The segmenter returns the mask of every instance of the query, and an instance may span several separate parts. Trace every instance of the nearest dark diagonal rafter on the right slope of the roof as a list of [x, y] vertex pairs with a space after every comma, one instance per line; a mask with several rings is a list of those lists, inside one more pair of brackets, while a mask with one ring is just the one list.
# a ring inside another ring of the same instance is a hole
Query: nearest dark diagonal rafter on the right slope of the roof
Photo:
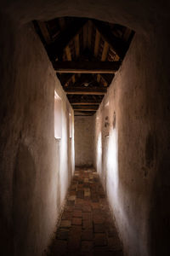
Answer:
[[116, 38], [112, 33], [108, 26], [105, 25], [103, 21], [92, 20], [96, 29], [100, 32], [101, 36], [105, 39], [105, 41], [111, 46], [112, 49], [116, 52], [116, 54], [123, 59], [128, 44], [124, 42], [121, 38]]

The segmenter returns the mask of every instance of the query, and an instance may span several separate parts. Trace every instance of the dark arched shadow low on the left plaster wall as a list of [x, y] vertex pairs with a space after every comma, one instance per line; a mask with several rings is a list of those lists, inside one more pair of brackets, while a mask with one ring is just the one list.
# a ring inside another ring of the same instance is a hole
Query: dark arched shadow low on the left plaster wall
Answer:
[[13, 179], [14, 255], [29, 255], [29, 234], [34, 226], [33, 198], [36, 183], [35, 163], [29, 149], [21, 144]]

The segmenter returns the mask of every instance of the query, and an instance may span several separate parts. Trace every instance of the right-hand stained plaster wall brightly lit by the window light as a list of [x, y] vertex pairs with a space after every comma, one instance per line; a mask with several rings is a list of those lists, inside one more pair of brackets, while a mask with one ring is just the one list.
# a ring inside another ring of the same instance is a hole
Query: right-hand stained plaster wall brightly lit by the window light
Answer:
[[169, 254], [167, 41], [135, 34], [95, 117], [94, 166], [125, 255]]

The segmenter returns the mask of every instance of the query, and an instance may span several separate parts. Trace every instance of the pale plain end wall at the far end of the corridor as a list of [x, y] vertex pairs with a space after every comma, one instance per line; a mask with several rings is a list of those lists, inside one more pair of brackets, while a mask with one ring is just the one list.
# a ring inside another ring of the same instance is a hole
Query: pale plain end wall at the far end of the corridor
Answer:
[[94, 117], [75, 117], [75, 164], [92, 166], [94, 162]]

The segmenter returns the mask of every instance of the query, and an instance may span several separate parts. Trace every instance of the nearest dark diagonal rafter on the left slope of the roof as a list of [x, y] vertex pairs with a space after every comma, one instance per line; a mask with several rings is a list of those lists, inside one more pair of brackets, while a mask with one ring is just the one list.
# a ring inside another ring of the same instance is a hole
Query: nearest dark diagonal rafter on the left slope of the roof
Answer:
[[75, 38], [86, 22], [86, 19], [75, 19], [71, 22], [70, 26], [67, 26], [60, 32], [59, 38], [48, 45], [48, 55], [51, 61], [54, 61], [57, 57], [60, 58], [63, 55], [65, 47], [73, 38]]

